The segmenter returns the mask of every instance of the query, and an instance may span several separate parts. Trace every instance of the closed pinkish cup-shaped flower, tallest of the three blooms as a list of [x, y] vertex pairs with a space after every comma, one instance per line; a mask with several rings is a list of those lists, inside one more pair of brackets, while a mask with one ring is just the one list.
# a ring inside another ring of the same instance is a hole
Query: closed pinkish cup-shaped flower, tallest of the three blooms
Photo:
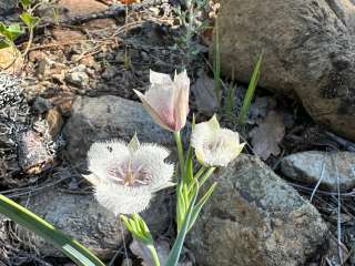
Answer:
[[178, 132], [186, 124], [190, 79], [186, 71], [169, 74], [150, 71], [150, 89], [142, 94], [134, 90], [154, 122], [165, 130]]

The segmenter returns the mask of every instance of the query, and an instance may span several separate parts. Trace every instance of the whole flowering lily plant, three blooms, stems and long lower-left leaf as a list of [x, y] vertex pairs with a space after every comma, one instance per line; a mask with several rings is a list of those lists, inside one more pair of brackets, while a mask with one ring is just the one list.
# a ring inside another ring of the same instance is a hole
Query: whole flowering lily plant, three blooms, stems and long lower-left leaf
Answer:
[[[97, 201], [121, 218], [133, 237], [145, 246], [151, 262], [160, 266], [154, 239], [139, 215], [159, 191], [176, 187], [176, 239], [166, 266], [178, 265], [184, 239], [217, 183], [207, 180], [217, 167], [226, 167], [243, 150], [237, 132], [222, 129], [216, 115], [206, 122], [192, 121], [189, 149], [184, 151], [181, 131], [189, 113], [190, 79], [186, 72], [170, 75], [151, 71], [151, 86], [145, 94], [136, 91], [143, 106], [158, 125], [170, 131], [176, 141], [179, 162], [165, 162], [168, 149], [155, 143], [108, 141], [94, 143], [89, 153], [90, 175], [84, 176], [95, 188]], [[195, 171], [197, 170], [197, 171]], [[175, 172], [175, 175], [174, 175]], [[202, 187], [204, 193], [202, 193]], [[81, 266], [104, 264], [77, 241], [27, 208], [0, 195], [0, 213], [42, 236]]]

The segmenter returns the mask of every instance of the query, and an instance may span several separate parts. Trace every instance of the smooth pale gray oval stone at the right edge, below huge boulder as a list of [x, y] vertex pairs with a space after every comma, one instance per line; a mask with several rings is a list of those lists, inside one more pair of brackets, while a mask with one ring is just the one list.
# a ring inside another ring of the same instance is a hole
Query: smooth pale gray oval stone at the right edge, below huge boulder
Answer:
[[315, 186], [322, 177], [322, 188], [336, 192], [339, 184], [348, 191], [355, 187], [355, 153], [295, 153], [282, 160], [281, 171], [295, 182]]

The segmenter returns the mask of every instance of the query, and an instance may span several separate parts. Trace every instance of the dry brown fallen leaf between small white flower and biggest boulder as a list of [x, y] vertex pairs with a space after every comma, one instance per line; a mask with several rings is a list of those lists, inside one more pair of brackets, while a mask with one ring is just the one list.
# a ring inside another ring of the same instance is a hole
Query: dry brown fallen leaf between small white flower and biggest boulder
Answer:
[[256, 155], [266, 160], [271, 154], [278, 155], [278, 143], [285, 135], [283, 115], [275, 111], [270, 111], [264, 121], [250, 132], [253, 151]]

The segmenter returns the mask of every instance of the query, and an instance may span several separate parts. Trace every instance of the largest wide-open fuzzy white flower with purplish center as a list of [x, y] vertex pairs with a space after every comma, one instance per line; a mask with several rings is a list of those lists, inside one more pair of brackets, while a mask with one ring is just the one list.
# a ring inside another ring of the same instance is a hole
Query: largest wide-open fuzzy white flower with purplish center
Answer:
[[165, 147], [140, 144], [134, 135], [129, 144], [120, 141], [98, 142], [88, 152], [90, 175], [97, 201], [114, 213], [144, 211], [160, 190], [174, 185], [174, 165], [165, 163]]

